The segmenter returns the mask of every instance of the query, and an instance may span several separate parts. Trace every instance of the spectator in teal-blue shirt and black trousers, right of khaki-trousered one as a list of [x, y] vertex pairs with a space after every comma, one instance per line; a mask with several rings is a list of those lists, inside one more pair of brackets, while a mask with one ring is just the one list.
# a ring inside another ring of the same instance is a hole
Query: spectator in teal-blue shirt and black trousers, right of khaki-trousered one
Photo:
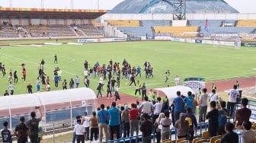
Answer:
[[120, 113], [116, 105], [116, 102], [112, 102], [111, 108], [108, 110], [110, 115], [110, 140], [114, 140], [114, 133], [116, 133], [117, 139], [120, 138]]

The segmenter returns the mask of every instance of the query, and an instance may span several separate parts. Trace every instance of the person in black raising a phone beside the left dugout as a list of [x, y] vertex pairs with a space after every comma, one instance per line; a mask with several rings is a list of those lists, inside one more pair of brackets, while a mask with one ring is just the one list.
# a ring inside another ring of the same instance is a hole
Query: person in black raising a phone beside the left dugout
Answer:
[[28, 136], [30, 138], [31, 143], [37, 143], [38, 139], [38, 126], [39, 122], [42, 120], [42, 110], [40, 107], [37, 108], [40, 112], [40, 117], [36, 118], [36, 113], [32, 111], [30, 113], [31, 119], [27, 121], [27, 128], [28, 128]]

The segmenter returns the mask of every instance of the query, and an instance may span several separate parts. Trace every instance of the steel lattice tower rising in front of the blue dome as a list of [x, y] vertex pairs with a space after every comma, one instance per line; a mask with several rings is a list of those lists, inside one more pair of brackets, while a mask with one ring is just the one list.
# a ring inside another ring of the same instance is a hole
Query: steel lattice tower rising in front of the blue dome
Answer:
[[186, 20], [186, 0], [174, 0], [173, 20]]

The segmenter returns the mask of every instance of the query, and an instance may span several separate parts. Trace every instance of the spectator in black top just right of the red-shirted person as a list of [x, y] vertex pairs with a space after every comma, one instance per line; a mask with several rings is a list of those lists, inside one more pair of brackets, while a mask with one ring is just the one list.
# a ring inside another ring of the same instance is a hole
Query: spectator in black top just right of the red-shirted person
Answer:
[[150, 120], [150, 116], [147, 113], [143, 113], [143, 120], [140, 123], [139, 130], [142, 132], [142, 142], [151, 143], [151, 133], [153, 129], [153, 123]]

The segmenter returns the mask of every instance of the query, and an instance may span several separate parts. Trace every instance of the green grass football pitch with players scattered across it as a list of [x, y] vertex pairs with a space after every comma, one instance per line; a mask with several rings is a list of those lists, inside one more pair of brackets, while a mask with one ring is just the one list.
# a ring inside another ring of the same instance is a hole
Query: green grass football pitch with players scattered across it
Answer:
[[[46, 41], [44, 41], [46, 42]], [[52, 41], [53, 42], [53, 41]], [[59, 40], [65, 42], [65, 40]], [[8, 41], [0, 44], [30, 44], [33, 41]], [[34, 43], [43, 43], [36, 41]], [[171, 41], [145, 41], [123, 43], [86, 43], [78, 45], [60, 46], [3, 46], [0, 50], [0, 62], [5, 65], [7, 75], [0, 75], [0, 94], [3, 95], [8, 89], [8, 72], [18, 71], [18, 84], [14, 84], [14, 94], [25, 94], [27, 82], [33, 85], [36, 91], [38, 66], [42, 59], [46, 62], [45, 73], [50, 76], [52, 90], [61, 90], [53, 84], [53, 70], [56, 67], [62, 69], [62, 80], [66, 79], [69, 84], [70, 78], [75, 75], [83, 78], [85, 60], [91, 66], [95, 62], [108, 64], [110, 59], [114, 62], [123, 62], [126, 59], [132, 66], [143, 67], [148, 61], [153, 67], [154, 78], [146, 78], [142, 71], [142, 77], [136, 77], [141, 83], [145, 82], [147, 88], [166, 87], [174, 85], [174, 77], [178, 75], [181, 81], [184, 78], [198, 77], [206, 81], [217, 81], [230, 78], [249, 77], [256, 75], [256, 49], [235, 49], [234, 46], [213, 46], [198, 43], [177, 43]], [[54, 55], [58, 56], [58, 64], [54, 64]], [[21, 80], [21, 63], [26, 64], [27, 81]], [[165, 71], [170, 70], [171, 76], [165, 83]], [[90, 78], [90, 87], [96, 91], [99, 78]], [[120, 81], [120, 92], [133, 94], [135, 87], [126, 85], [126, 80]], [[107, 81], [104, 81], [107, 84]], [[42, 86], [41, 86], [42, 87]], [[85, 84], [80, 83], [80, 87]], [[106, 89], [106, 87], [104, 87]], [[41, 89], [41, 91], [43, 91]], [[104, 94], [106, 90], [104, 90]]]

